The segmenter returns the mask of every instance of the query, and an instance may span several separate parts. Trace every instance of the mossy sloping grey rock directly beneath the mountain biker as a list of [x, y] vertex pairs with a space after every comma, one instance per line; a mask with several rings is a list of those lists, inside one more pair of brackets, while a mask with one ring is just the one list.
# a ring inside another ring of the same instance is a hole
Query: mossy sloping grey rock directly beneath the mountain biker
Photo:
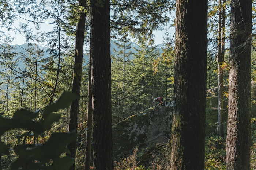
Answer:
[[160, 107], [157, 116], [152, 114], [154, 107], [137, 113], [113, 126], [113, 151], [117, 156], [132, 150], [139, 144], [147, 144], [160, 136], [170, 138], [173, 104]]

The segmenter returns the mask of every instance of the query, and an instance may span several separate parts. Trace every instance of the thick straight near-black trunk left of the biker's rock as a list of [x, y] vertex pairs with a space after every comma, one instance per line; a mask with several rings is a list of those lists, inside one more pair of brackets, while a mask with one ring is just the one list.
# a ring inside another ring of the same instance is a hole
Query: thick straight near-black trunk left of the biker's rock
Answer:
[[91, 0], [93, 157], [95, 170], [113, 170], [110, 18], [108, 0]]

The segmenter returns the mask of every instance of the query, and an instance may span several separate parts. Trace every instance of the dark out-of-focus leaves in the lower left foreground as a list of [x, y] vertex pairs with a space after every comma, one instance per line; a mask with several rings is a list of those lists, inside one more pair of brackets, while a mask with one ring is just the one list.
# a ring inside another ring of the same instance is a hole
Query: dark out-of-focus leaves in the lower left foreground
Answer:
[[[39, 121], [34, 121], [39, 116], [39, 112], [30, 112], [24, 109], [14, 113], [12, 118], [0, 116], [0, 135], [9, 129], [22, 128], [33, 133], [23, 133], [16, 137], [20, 141], [22, 138], [34, 138], [34, 144], [17, 144], [13, 149], [18, 158], [12, 162], [11, 169], [69, 169], [74, 163], [74, 158], [65, 156], [64, 153], [69, 153], [67, 144], [73, 142], [77, 134], [70, 133], [53, 133], [50, 138], [45, 141], [44, 134], [50, 130], [52, 124], [59, 121], [60, 114], [53, 112], [59, 109], [67, 108], [72, 100], [77, 99], [77, 96], [71, 92], [63, 92], [56, 103], [46, 106]], [[39, 135], [42, 136], [44, 142], [35, 144], [35, 139], [38, 140]], [[20, 143], [20, 142], [19, 142]], [[10, 155], [10, 144], [1, 143], [0, 152], [5, 155]]]

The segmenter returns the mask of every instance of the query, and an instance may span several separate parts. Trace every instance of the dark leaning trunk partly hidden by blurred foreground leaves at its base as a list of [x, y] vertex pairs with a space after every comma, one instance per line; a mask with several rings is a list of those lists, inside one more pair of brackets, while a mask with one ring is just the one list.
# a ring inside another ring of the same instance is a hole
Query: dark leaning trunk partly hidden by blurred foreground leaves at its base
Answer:
[[[86, 6], [86, 0], [79, 0], [79, 5]], [[75, 56], [74, 56], [74, 71], [72, 81], [72, 92], [80, 96], [81, 81], [82, 81], [82, 64], [83, 64], [83, 44], [84, 44], [84, 28], [85, 28], [85, 17], [86, 13], [83, 9], [79, 16], [78, 23], [76, 24], [76, 43], [75, 43]], [[70, 120], [69, 120], [69, 132], [75, 130], [78, 127], [78, 113], [79, 113], [79, 101], [74, 100], [70, 106]], [[71, 157], [76, 156], [76, 141], [68, 144], [68, 149], [71, 151]], [[75, 165], [70, 168], [74, 170]]]

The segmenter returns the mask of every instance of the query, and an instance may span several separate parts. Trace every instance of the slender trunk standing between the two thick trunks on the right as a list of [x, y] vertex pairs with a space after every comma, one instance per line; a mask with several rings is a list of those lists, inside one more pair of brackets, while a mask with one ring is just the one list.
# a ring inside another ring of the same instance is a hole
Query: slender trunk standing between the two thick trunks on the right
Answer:
[[[223, 18], [224, 17], [224, 20]], [[222, 11], [222, 0], [219, 0], [219, 23], [218, 23], [218, 126], [217, 135], [218, 137], [224, 137], [224, 125], [223, 125], [223, 62], [224, 62], [224, 42], [222, 26], [225, 26], [225, 13]], [[223, 53], [223, 55], [222, 55]]]

